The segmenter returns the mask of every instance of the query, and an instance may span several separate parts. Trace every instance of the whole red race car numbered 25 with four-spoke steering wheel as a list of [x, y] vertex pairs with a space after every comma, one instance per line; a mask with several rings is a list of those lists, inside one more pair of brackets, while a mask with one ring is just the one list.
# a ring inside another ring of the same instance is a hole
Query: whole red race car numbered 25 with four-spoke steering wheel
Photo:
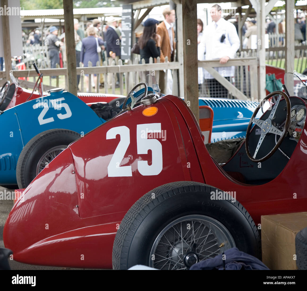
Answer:
[[273, 95], [220, 164], [183, 100], [144, 97], [37, 175], [6, 220], [5, 246], [20, 262], [82, 268], [188, 269], [232, 247], [260, 257], [261, 215], [307, 210], [306, 99]]

